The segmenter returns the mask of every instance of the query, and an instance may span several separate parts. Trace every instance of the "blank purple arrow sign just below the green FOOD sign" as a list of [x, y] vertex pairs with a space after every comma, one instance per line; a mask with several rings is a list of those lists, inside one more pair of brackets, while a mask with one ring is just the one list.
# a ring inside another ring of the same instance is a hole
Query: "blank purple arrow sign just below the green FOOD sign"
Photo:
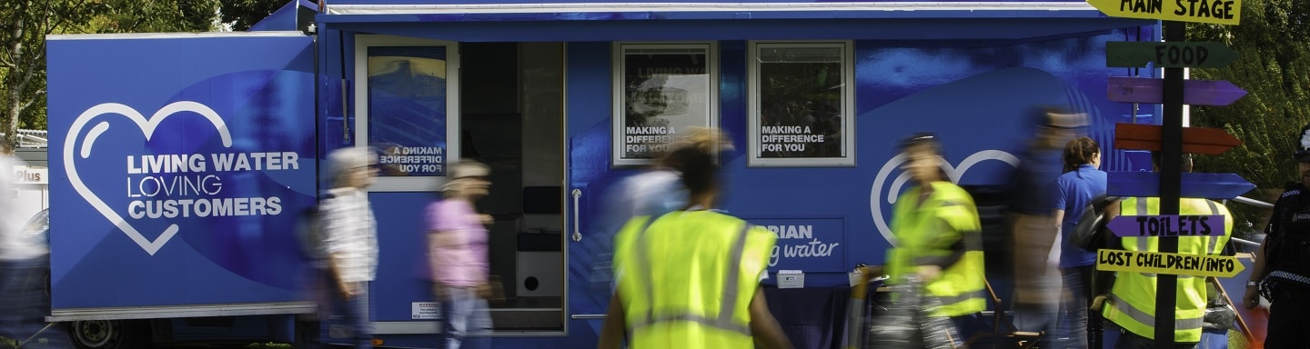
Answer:
[[[1224, 80], [1183, 80], [1183, 105], [1227, 106], [1243, 95], [1246, 90]], [[1165, 80], [1111, 77], [1106, 97], [1112, 102], [1163, 103]]]

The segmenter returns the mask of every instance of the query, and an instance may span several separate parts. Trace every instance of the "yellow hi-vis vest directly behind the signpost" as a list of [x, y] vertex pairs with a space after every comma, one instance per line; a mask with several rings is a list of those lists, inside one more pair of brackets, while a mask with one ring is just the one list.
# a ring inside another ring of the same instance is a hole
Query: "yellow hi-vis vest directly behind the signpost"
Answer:
[[[1178, 237], [1178, 254], [1217, 255], [1227, 244], [1233, 233], [1233, 216], [1227, 208], [1204, 199], [1182, 199], [1179, 214], [1222, 214], [1224, 234], [1210, 237]], [[1128, 197], [1119, 203], [1119, 214], [1157, 216], [1159, 197]], [[1124, 250], [1159, 252], [1159, 238], [1123, 238]], [[1110, 303], [1102, 310], [1104, 318], [1119, 327], [1155, 339], [1155, 273], [1116, 272], [1110, 288]], [[1174, 342], [1201, 341], [1201, 323], [1205, 318], [1205, 277], [1178, 276], [1178, 305], [1174, 306]]]

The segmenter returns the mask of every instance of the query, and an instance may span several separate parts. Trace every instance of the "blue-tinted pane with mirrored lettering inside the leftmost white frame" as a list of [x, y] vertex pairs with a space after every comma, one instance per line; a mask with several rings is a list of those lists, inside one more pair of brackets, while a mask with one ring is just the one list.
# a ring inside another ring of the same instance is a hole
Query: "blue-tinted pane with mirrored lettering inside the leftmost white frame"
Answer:
[[445, 47], [368, 48], [368, 145], [381, 176], [445, 175]]

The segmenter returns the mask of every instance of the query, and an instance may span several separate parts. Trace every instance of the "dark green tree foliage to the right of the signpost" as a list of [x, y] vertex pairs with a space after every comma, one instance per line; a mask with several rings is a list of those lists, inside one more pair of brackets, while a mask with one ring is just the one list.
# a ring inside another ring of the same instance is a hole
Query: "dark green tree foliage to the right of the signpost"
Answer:
[[[1241, 58], [1218, 69], [1192, 69], [1192, 78], [1227, 80], [1248, 93], [1224, 107], [1192, 107], [1192, 125], [1224, 128], [1242, 145], [1221, 156], [1199, 157], [1197, 171], [1235, 173], [1262, 191], [1276, 192], [1300, 174], [1292, 159], [1310, 122], [1310, 1], [1246, 0], [1237, 26], [1189, 25], [1188, 41], [1221, 42]], [[1259, 225], [1262, 210], [1229, 205], [1237, 222]], [[1259, 226], [1256, 226], [1259, 229]]]

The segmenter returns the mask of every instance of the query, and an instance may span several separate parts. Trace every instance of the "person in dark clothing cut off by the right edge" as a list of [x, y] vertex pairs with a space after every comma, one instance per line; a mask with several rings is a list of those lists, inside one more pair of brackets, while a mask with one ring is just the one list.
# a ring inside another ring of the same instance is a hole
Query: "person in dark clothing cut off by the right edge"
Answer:
[[1305, 348], [1310, 322], [1310, 124], [1296, 136], [1297, 174], [1273, 204], [1264, 242], [1255, 251], [1255, 267], [1246, 282], [1246, 308], [1269, 299], [1268, 337], [1264, 348]]

